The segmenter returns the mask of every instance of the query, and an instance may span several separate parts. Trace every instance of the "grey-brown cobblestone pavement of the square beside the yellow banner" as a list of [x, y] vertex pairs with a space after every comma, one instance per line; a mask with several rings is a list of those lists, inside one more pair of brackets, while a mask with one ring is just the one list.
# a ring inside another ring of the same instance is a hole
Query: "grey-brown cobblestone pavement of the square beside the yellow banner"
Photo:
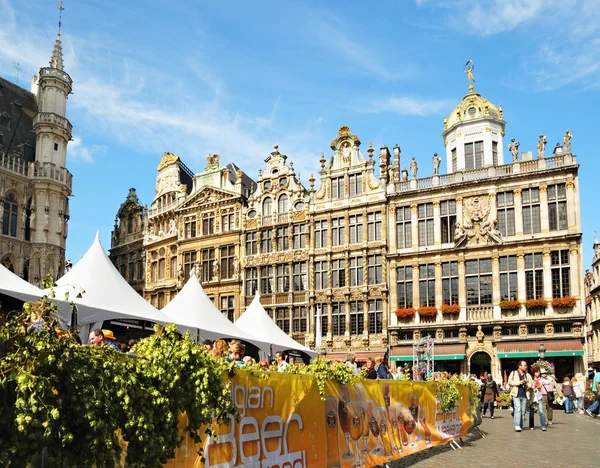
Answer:
[[512, 421], [510, 410], [496, 410], [494, 419], [485, 418], [479, 426], [486, 437], [472, 431], [463, 438], [462, 451], [455, 452], [444, 444], [392, 462], [389, 467], [600, 466], [600, 417], [554, 410], [553, 424], [546, 432], [542, 432], [537, 415], [533, 431], [526, 427], [515, 432]]

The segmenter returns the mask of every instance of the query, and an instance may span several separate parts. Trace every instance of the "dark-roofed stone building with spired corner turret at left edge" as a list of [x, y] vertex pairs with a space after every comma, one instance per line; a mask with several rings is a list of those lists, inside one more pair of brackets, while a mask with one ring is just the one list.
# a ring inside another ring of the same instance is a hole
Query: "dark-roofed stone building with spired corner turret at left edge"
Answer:
[[73, 177], [66, 168], [73, 82], [60, 32], [27, 91], [0, 78], [0, 263], [40, 285], [63, 274]]

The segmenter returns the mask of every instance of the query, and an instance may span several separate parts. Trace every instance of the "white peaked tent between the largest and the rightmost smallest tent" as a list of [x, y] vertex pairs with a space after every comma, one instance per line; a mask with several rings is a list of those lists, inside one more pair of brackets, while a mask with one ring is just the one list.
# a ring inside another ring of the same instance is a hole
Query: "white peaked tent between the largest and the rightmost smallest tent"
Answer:
[[269, 353], [270, 343], [242, 331], [225, 317], [208, 298], [194, 270], [177, 296], [161, 309], [181, 331], [190, 331], [192, 338], [198, 331], [202, 338], [236, 338], [255, 344]]

